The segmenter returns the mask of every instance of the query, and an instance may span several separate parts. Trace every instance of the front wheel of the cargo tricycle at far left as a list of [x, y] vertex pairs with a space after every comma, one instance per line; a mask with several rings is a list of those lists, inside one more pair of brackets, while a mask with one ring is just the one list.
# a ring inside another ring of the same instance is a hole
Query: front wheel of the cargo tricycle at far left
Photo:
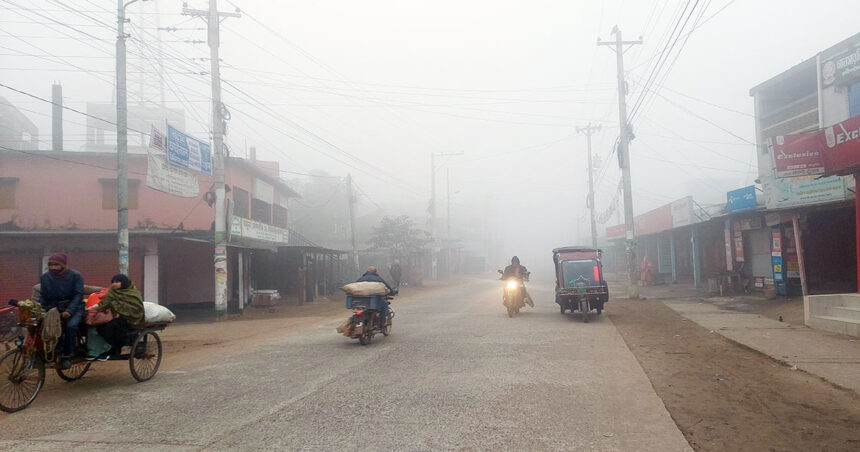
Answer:
[[45, 384], [45, 362], [35, 357], [33, 367], [16, 348], [0, 357], [0, 410], [7, 413], [23, 410], [33, 403]]

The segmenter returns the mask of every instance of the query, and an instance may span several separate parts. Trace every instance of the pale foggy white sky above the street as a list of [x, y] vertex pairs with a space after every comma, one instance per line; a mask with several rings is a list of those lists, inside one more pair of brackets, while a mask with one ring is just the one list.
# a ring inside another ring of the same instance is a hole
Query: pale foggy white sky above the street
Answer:
[[[205, 139], [209, 62], [200, 59], [209, 50], [182, 42], [205, 41], [205, 24], [182, 16], [180, 1], [154, 3], [129, 7], [127, 31], [149, 45], [129, 42], [129, 104], [139, 101], [134, 90], [141, 68], [146, 77], [156, 76], [152, 59], [140, 62], [134, 55], [154, 54], [156, 27], [180, 28], [161, 32], [172, 74], [167, 103], [186, 109], [187, 131]], [[423, 215], [430, 153], [462, 152], [438, 159], [437, 196], [444, 199], [448, 169], [458, 192], [454, 228], [456, 215], [468, 217], [489, 203], [499, 215], [491, 221], [493, 234], [505, 251], [542, 256], [588, 235], [586, 140], [576, 126], [602, 126], [593, 139], [594, 154], [603, 160], [596, 173], [598, 213], [613, 199], [620, 177], [610, 158], [618, 134], [615, 54], [596, 46], [596, 39], [613, 39], [617, 24], [625, 39], [645, 41], [625, 55], [632, 104], [661, 36], [685, 2], [233, 3], [245, 12], [223, 22], [221, 38], [233, 155], [256, 146], [258, 158], [278, 160], [284, 170], [351, 172], [370, 198], [360, 200], [360, 209], [373, 210], [376, 203], [386, 213]], [[116, 31], [106, 25], [115, 25], [115, 5], [0, 0], [0, 79], [47, 98], [51, 83], [60, 81], [74, 108], [112, 101]], [[219, 8], [234, 6], [220, 0]], [[700, 204], [724, 202], [726, 190], [751, 184], [756, 161], [748, 143], [755, 141], [749, 89], [857, 32], [856, 4], [847, 0], [699, 2], [703, 9], [707, 22], [690, 35], [659, 95], [647, 98], [633, 123], [637, 213], [687, 194]], [[50, 105], [8, 90], [0, 96], [26, 110], [40, 128], [42, 148], [49, 148]], [[65, 119], [66, 148], [80, 149], [85, 120], [71, 112]], [[437, 205], [444, 216], [443, 200]]]

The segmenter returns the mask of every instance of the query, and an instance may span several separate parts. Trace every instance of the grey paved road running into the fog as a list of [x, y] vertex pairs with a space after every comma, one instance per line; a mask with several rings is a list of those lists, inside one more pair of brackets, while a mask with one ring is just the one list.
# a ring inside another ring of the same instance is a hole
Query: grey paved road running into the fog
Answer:
[[365, 347], [331, 320], [148, 383], [51, 381], [0, 415], [0, 449], [689, 450], [609, 319], [561, 316], [549, 289], [514, 319], [495, 281], [405, 297]]

